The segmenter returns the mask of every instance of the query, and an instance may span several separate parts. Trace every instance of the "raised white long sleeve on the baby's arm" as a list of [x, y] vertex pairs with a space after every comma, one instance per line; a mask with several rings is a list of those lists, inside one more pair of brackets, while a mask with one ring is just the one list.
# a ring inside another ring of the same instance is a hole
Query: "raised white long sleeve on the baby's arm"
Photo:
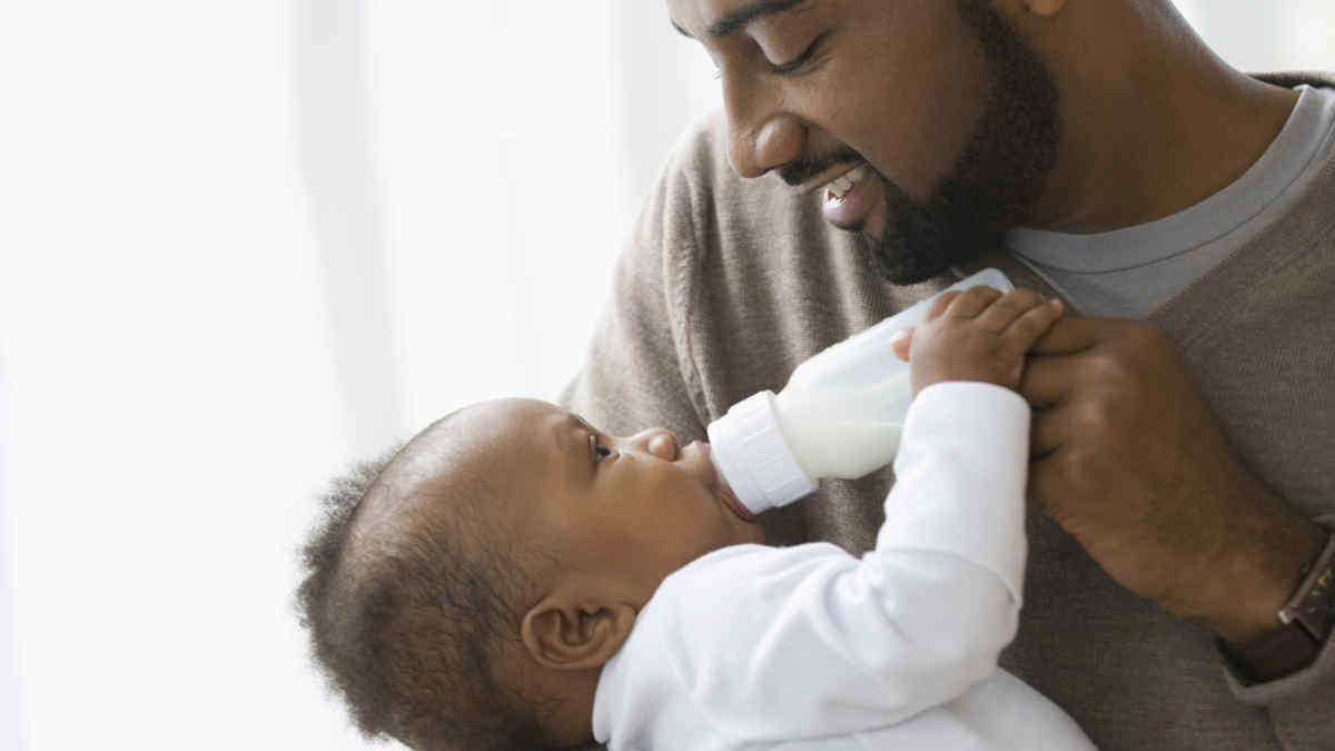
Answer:
[[654, 601], [677, 682], [737, 742], [884, 727], [959, 698], [1015, 636], [1029, 409], [939, 384], [909, 409], [876, 549], [718, 551]]

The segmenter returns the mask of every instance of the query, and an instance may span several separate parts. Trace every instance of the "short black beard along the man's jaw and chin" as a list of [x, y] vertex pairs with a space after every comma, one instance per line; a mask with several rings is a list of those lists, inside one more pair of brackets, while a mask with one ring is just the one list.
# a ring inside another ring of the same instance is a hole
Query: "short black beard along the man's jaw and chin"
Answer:
[[1057, 91], [1043, 61], [987, 0], [959, 4], [992, 72], [983, 120], [925, 204], [877, 172], [885, 231], [854, 235], [868, 261], [896, 285], [924, 282], [996, 249], [1033, 210], [1057, 155]]

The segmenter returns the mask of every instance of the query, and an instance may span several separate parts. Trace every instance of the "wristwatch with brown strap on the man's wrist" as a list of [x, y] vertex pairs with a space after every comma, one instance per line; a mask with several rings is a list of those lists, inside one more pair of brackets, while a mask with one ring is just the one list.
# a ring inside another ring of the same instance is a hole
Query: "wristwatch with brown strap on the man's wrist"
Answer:
[[1312, 664], [1335, 627], [1335, 535], [1322, 555], [1300, 576], [1278, 616], [1284, 624], [1255, 641], [1219, 645], [1235, 672], [1250, 683], [1267, 683]]

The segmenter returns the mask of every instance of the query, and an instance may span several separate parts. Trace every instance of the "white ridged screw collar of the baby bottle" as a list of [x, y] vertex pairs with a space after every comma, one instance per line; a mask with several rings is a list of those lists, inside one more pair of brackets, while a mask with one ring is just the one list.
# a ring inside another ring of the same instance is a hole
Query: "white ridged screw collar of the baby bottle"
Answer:
[[742, 400], [709, 424], [709, 456], [752, 513], [788, 505], [816, 490], [778, 429], [774, 392]]

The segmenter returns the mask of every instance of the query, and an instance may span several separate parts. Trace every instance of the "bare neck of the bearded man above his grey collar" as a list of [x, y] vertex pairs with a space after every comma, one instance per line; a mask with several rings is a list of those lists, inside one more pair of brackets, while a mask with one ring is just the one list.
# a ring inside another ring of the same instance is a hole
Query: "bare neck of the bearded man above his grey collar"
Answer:
[[1240, 178], [1294, 110], [1298, 92], [1228, 67], [1176, 13], [1132, 5], [1068, 5], [1049, 49], [1059, 156], [1031, 227], [1101, 233], [1183, 211]]

